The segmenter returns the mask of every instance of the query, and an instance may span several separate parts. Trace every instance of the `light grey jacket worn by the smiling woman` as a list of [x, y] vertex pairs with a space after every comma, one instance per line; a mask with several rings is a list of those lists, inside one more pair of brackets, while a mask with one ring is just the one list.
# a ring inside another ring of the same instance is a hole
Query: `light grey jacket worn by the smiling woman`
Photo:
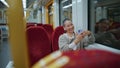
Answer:
[[[71, 48], [69, 48], [69, 44], [71, 44], [75, 39], [74, 38], [70, 39], [69, 37], [66, 36], [66, 33], [62, 34], [59, 37], [59, 50], [60, 51], [70, 51], [73, 50]], [[91, 34], [90, 36], [86, 36], [82, 41], [80, 41], [77, 45], [77, 50], [78, 49], [83, 49], [84, 47], [88, 46], [89, 44], [92, 44], [95, 42], [95, 37], [93, 34]]]

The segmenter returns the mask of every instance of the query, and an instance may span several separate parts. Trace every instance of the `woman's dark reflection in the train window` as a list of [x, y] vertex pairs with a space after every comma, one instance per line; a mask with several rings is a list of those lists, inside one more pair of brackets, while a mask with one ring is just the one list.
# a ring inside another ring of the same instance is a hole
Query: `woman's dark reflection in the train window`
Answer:
[[104, 44], [113, 48], [120, 49], [120, 40], [117, 40], [113, 30], [108, 30], [109, 20], [101, 19], [99, 21], [98, 31], [95, 34], [96, 43]]

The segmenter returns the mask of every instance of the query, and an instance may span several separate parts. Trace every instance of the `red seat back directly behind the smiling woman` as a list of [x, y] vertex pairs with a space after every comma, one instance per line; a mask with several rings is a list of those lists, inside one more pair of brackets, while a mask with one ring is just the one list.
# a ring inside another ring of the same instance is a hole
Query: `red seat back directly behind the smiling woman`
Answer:
[[59, 36], [63, 33], [64, 33], [64, 29], [62, 26], [59, 26], [54, 30], [54, 32], [52, 34], [52, 50], [53, 51], [56, 51], [59, 49], [58, 39], [59, 39]]

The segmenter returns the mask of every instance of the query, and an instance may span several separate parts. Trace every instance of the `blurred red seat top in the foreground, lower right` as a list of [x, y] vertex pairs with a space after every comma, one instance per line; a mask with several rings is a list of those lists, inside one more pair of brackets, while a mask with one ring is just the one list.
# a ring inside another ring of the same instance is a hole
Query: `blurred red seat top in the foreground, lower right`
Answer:
[[63, 68], [120, 68], [120, 54], [101, 50], [64, 52], [70, 61]]

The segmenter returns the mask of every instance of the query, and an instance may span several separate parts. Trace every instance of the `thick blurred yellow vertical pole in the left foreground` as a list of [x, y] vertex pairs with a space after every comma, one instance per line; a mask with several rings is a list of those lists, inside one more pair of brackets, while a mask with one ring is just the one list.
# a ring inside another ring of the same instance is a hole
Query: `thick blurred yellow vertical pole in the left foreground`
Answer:
[[8, 27], [15, 68], [29, 68], [22, 0], [7, 0]]

